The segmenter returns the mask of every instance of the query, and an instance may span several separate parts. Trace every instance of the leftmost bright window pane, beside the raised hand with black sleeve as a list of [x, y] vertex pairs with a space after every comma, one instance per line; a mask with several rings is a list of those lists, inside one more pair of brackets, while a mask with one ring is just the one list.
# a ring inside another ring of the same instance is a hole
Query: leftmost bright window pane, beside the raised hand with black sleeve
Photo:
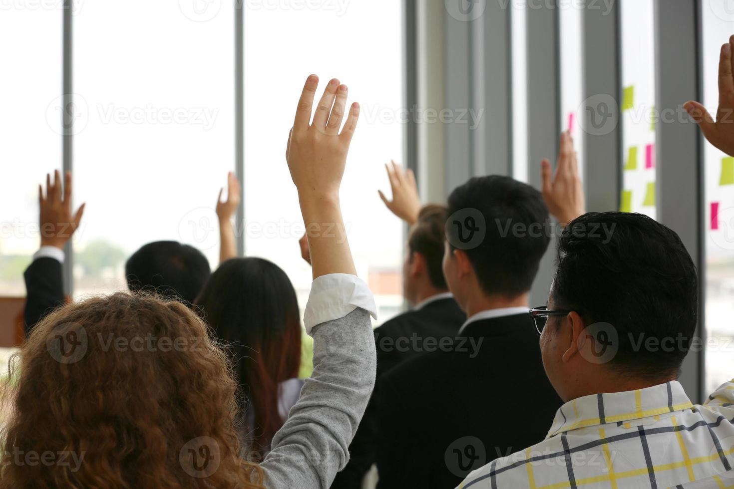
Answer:
[[0, 295], [23, 297], [38, 249], [38, 184], [61, 169], [61, 2], [0, 7]]

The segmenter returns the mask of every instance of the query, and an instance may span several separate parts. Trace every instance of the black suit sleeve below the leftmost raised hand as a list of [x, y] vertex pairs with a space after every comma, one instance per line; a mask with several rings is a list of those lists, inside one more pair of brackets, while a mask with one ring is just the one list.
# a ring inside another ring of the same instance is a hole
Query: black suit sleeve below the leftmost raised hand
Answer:
[[64, 304], [62, 265], [55, 258], [42, 257], [26, 268], [26, 309], [23, 319], [26, 337], [49, 312]]

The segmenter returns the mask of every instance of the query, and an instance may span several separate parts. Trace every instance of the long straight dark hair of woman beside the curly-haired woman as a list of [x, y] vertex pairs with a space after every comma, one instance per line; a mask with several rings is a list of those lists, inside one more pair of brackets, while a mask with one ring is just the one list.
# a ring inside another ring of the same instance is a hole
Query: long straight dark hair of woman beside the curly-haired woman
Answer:
[[219, 265], [197, 299], [197, 310], [230, 351], [246, 409], [253, 447], [269, 445], [283, 420], [278, 386], [296, 378], [301, 326], [296, 292], [286, 273], [261, 258], [236, 258]]

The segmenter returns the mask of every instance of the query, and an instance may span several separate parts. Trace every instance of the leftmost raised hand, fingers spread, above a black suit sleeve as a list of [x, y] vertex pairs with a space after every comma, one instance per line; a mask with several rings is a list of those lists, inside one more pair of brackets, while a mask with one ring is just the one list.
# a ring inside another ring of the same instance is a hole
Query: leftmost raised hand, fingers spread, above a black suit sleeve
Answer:
[[64, 175], [63, 188], [59, 170], [54, 172], [53, 183], [51, 175], [46, 174], [46, 196], [43, 196], [43, 185], [38, 185], [38, 201], [41, 246], [63, 249], [76, 229], [79, 229], [85, 205], [82, 204], [76, 213], [71, 212], [71, 172]]

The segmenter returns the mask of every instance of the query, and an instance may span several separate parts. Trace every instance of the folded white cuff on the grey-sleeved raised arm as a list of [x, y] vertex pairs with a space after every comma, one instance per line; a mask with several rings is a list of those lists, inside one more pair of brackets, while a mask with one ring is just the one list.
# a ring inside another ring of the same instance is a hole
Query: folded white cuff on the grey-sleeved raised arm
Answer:
[[374, 295], [367, 284], [355, 275], [331, 273], [320, 276], [311, 284], [308, 304], [303, 314], [306, 332], [314, 326], [340, 319], [360, 307], [377, 319]]

